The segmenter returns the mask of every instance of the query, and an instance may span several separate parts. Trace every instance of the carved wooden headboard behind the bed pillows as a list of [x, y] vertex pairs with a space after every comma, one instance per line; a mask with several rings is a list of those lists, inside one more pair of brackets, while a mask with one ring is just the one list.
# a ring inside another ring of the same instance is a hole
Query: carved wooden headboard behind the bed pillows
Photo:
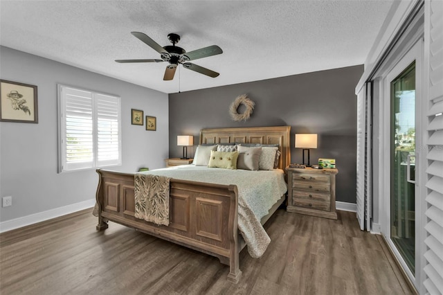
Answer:
[[277, 143], [281, 152], [278, 168], [284, 170], [291, 163], [290, 136], [291, 126], [201, 129], [200, 144]]

